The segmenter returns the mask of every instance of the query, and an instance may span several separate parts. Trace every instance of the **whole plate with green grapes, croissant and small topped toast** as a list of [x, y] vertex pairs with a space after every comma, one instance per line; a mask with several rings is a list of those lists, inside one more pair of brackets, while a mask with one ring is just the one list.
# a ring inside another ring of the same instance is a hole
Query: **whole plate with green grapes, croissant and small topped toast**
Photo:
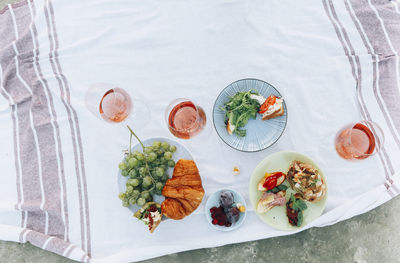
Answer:
[[[150, 232], [163, 217], [180, 220], [200, 205], [204, 189], [196, 163], [180, 143], [168, 138], [141, 141], [130, 131], [130, 148], [119, 164], [118, 190], [122, 205]], [[132, 139], [139, 143], [131, 146]]]

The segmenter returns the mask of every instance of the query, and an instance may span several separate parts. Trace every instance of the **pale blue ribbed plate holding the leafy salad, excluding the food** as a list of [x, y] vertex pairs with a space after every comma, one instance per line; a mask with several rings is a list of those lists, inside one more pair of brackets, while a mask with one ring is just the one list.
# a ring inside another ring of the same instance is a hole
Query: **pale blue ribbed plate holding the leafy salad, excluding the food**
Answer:
[[287, 123], [287, 108], [285, 98], [283, 98], [285, 113], [282, 116], [263, 121], [261, 115], [257, 114], [257, 118], [255, 120], [249, 120], [244, 127], [247, 130], [246, 136], [239, 137], [236, 134], [230, 135], [226, 131], [226, 125], [224, 123], [225, 111], [223, 108], [225, 103], [237, 92], [246, 92], [249, 90], [258, 91], [258, 93], [265, 98], [271, 95], [282, 97], [277, 89], [265, 81], [258, 79], [238, 80], [229, 84], [217, 97], [213, 109], [213, 120], [219, 137], [221, 137], [226, 144], [239, 151], [257, 152], [270, 147], [282, 136]]

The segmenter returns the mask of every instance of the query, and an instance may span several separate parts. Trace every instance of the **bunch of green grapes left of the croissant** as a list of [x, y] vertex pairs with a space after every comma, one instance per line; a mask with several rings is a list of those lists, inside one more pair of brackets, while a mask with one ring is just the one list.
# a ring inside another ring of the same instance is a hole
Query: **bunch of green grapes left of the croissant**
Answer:
[[125, 207], [134, 204], [141, 207], [153, 201], [153, 194], [161, 195], [169, 177], [167, 170], [175, 166], [172, 155], [176, 146], [154, 141], [152, 146], [143, 148], [143, 152], [128, 153], [119, 164], [122, 176], [128, 177], [125, 193], [119, 194]]

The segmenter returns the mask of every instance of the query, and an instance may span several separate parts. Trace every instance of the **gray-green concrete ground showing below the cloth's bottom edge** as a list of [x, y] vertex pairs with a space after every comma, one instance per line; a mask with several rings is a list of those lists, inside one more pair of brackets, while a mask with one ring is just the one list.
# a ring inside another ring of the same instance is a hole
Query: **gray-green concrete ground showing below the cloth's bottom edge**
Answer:
[[[219, 248], [182, 252], [146, 263], [400, 262], [400, 199], [333, 226]], [[0, 241], [0, 262], [67, 263], [30, 244]]]

